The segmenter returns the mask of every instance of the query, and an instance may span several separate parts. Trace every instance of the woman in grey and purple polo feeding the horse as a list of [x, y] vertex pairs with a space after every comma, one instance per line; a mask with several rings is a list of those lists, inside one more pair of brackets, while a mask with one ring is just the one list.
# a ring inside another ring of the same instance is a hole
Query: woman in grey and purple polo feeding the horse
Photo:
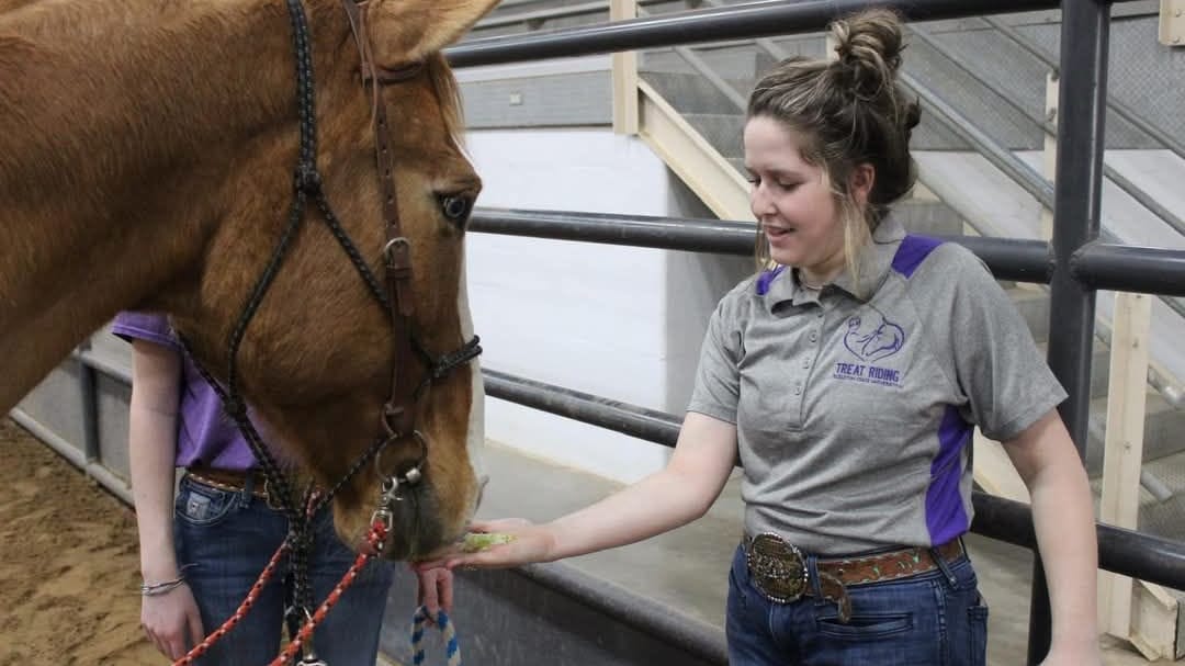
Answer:
[[831, 27], [834, 60], [762, 78], [744, 128], [767, 267], [724, 296], [665, 469], [448, 566], [546, 562], [633, 543], [711, 506], [744, 467], [729, 577], [732, 666], [984, 664], [987, 608], [962, 547], [974, 425], [1032, 495], [1053, 609], [1048, 665], [1100, 664], [1087, 476], [1065, 392], [987, 269], [907, 236], [917, 105], [896, 84], [902, 27]]

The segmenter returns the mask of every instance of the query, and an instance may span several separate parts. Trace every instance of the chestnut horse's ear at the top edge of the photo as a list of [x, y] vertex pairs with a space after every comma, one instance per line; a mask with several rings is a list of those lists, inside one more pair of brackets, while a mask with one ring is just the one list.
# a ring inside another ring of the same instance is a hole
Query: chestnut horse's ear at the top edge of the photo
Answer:
[[371, 0], [371, 47], [379, 65], [419, 60], [456, 41], [499, 0]]

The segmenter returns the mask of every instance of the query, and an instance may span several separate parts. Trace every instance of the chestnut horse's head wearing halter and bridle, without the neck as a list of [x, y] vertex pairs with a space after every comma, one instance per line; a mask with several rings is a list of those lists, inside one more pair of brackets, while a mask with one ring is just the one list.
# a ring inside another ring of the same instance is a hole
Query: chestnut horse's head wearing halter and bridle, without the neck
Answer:
[[[321, 201], [329, 203], [346, 242], [308, 219], [282, 256], [275, 251], [276, 225], [260, 220], [283, 220], [289, 206], [262, 192], [290, 178], [300, 128], [268, 132], [224, 175], [243, 194], [225, 199], [193, 283], [199, 307], [174, 309], [173, 320], [211, 370], [232, 361], [226, 341], [241, 328], [233, 363], [243, 395], [282, 454], [335, 488], [347, 543], [363, 538], [382, 505], [392, 527], [385, 552], [424, 556], [455, 540], [475, 508], [469, 446], [482, 436], [476, 364], [447, 360], [474, 339], [463, 239], [481, 184], [461, 148], [456, 84], [438, 51], [493, 0], [346, 0], [350, 20], [332, 0], [324, 5], [308, 12], [319, 179], [306, 187], [305, 214], [325, 218]], [[295, 76], [269, 84], [290, 90]], [[274, 281], [244, 321], [248, 294], [275, 257]], [[410, 486], [384, 497], [384, 485], [401, 481]]]

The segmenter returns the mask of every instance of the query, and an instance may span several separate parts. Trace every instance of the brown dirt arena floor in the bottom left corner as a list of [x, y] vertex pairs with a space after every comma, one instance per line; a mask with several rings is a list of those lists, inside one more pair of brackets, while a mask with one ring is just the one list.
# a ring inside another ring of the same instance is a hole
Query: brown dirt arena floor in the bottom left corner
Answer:
[[0, 420], [0, 664], [167, 665], [140, 629], [135, 517]]

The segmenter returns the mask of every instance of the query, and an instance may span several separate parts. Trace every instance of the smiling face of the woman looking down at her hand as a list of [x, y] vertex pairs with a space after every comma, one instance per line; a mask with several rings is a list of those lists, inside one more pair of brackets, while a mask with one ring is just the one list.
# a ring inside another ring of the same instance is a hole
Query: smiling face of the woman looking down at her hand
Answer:
[[826, 172], [807, 164], [801, 140], [769, 116], [744, 128], [744, 166], [752, 191], [749, 205], [769, 239], [769, 254], [803, 269], [812, 282], [844, 268], [844, 225]]

